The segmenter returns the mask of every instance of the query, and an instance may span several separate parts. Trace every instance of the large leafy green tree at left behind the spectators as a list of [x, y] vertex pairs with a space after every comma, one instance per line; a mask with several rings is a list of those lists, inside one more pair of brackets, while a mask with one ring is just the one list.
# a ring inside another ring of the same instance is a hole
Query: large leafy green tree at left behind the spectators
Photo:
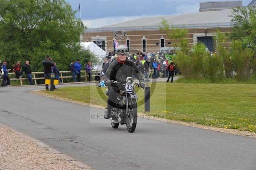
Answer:
[[86, 51], [79, 44], [84, 26], [65, 0], [0, 0], [0, 4], [2, 60], [31, 61], [33, 71], [42, 70], [46, 54], [61, 70], [67, 70], [72, 60], [84, 60]]

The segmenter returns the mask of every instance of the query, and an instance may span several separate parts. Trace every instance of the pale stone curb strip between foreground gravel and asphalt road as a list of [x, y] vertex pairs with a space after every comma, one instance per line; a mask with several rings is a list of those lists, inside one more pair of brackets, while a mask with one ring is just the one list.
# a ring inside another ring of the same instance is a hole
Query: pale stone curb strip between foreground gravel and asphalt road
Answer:
[[60, 157], [63, 158], [64, 160], [69, 161], [69, 162], [72, 163], [72, 164], [75, 164], [76, 166], [80, 167], [80, 168], [83, 169], [83, 170], [93, 170], [92, 167], [90, 167], [89, 165], [84, 164], [84, 163], [78, 161], [77, 159], [72, 158], [72, 157], [70, 157], [70, 156], [68, 156], [68, 155], [66, 155], [66, 154], [64, 154], [64, 153], [61, 153], [60, 151], [55, 150], [55, 149], [52, 148], [52, 147], [49, 147], [47, 144], [45, 144], [45, 143], [39, 141], [38, 139], [32, 138], [32, 137], [30, 137], [30, 136], [28, 136], [28, 135], [26, 135], [26, 134], [24, 134], [24, 133], [21, 133], [21, 132], [15, 130], [15, 129], [12, 129], [11, 127], [6, 126], [6, 125], [1, 124], [1, 123], [0, 123], [0, 127], [5, 127], [6, 129], [11, 130], [13, 133], [16, 133], [17, 135], [20, 135], [21, 137], [26, 138], [26, 139], [28, 139], [29, 141], [34, 142], [35, 144], [37, 144], [38, 146], [44, 148], [45, 150], [49, 151], [50, 153], [53, 153], [53, 154], [55, 154], [55, 155], [57, 155], [57, 156], [60, 156]]

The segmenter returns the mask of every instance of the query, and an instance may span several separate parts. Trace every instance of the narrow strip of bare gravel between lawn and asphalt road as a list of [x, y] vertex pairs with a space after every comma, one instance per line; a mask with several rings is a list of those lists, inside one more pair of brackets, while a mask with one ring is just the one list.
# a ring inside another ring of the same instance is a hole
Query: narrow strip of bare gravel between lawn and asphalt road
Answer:
[[[88, 103], [84, 103], [84, 102], [80, 102], [80, 101], [73, 101], [67, 98], [62, 98], [62, 97], [58, 97], [58, 96], [53, 96], [53, 95], [48, 95], [44, 92], [41, 91], [32, 91], [32, 93], [36, 94], [36, 95], [42, 95], [45, 97], [49, 97], [49, 98], [55, 98], [61, 101], [68, 101], [71, 103], [75, 103], [75, 104], [81, 104], [84, 106], [90, 106], [90, 107], [96, 107], [99, 109], [105, 109], [105, 107], [99, 106], [99, 105], [94, 105], [94, 104], [88, 104]], [[139, 115], [146, 115], [145, 113], [139, 113]], [[173, 121], [173, 120], [169, 120], [169, 119], [162, 119], [162, 118], [156, 118], [156, 120], [158, 121], [164, 121], [164, 122], [169, 122], [169, 123], [174, 123], [174, 124], [182, 124], [185, 126], [190, 126], [190, 127], [196, 127], [196, 128], [201, 128], [201, 129], [206, 129], [206, 130], [213, 130], [213, 131], [217, 131], [217, 132], [223, 132], [223, 133], [230, 133], [232, 135], [240, 135], [240, 136], [247, 136], [247, 137], [251, 137], [251, 138], [256, 138], [256, 133], [253, 132], [248, 132], [248, 131], [241, 131], [241, 130], [234, 130], [234, 129], [224, 129], [224, 128], [218, 128], [218, 127], [211, 127], [211, 126], [206, 126], [206, 125], [201, 125], [201, 124], [197, 124], [195, 122], [184, 122], [184, 121]]]

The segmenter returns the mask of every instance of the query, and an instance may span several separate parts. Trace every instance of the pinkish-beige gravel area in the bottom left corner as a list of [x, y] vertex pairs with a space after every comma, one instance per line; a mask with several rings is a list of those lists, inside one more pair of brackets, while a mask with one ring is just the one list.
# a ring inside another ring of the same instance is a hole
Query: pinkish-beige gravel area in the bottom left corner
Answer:
[[0, 126], [0, 170], [81, 170], [75, 164]]

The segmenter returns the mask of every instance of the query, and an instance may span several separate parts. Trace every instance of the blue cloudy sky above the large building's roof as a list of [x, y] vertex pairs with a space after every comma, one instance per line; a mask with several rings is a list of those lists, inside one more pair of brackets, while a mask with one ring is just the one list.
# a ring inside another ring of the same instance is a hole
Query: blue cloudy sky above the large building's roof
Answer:
[[[66, 0], [78, 10], [79, 0]], [[81, 20], [88, 28], [97, 28], [139, 17], [198, 12], [207, 0], [80, 0]], [[209, 0], [210, 1], [210, 0]], [[243, 0], [247, 6], [251, 0]], [[79, 17], [79, 14], [76, 15]]]

